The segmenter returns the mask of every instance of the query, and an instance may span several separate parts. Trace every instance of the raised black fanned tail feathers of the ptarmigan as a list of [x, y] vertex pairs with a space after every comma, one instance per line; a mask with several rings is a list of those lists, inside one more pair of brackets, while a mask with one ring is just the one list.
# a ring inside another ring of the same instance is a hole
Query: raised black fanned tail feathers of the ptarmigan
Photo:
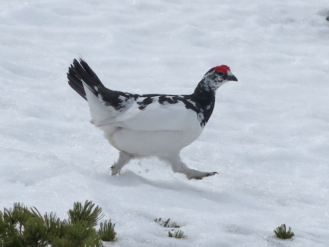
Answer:
[[84, 91], [82, 81], [88, 86], [96, 96], [98, 92], [95, 87], [104, 86], [95, 74], [93, 69], [82, 58], [73, 60], [73, 63], [68, 68], [67, 73], [68, 84], [74, 89], [82, 98], [87, 100], [86, 92]]

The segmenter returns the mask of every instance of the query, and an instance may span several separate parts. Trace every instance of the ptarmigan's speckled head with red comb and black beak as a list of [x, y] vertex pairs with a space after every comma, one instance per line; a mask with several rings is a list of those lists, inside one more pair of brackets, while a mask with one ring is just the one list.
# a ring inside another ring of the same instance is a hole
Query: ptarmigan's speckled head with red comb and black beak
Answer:
[[209, 69], [200, 82], [200, 86], [206, 91], [215, 92], [218, 87], [228, 81], [237, 81], [237, 79], [232, 74], [230, 67], [223, 64]]

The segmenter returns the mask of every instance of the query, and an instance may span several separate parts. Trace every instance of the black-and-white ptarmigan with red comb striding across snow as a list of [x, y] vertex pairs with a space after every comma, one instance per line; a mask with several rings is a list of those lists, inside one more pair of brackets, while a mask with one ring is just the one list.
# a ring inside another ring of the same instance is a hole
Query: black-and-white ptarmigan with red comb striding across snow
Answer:
[[112, 175], [134, 158], [155, 156], [188, 179], [202, 179], [217, 172], [188, 168], [180, 150], [202, 133], [215, 104], [218, 87], [237, 81], [226, 65], [209, 69], [190, 95], [131, 94], [107, 89], [88, 64], [75, 59], [68, 83], [89, 103], [91, 123], [104, 131], [120, 151]]

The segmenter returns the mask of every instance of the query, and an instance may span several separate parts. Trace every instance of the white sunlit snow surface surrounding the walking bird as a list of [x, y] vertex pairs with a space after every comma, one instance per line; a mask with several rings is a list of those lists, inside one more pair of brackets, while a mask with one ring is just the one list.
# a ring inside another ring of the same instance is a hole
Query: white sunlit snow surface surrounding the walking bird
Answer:
[[[329, 246], [328, 15], [327, 0], [2, 1], [0, 207], [67, 217], [93, 200], [116, 223], [108, 246]], [[150, 159], [111, 177], [118, 152], [67, 84], [79, 55], [131, 93], [189, 94], [230, 66], [239, 82], [181, 152], [219, 174], [188, 181]], [[292, 241], [273, 237], [283, 223]]]

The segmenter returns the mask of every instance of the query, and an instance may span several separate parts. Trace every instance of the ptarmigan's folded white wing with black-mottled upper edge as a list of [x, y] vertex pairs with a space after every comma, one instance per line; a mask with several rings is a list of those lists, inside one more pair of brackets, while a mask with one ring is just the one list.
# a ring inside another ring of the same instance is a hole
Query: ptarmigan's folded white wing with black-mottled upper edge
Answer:
[[196, 131], [202, 128], [194, 111], [197, 109], [191, 109], [193, 102], [182, 97], [134, 95], [99, 87], [92, 89], [96, 91], [94, 93], [84, 82], [83, 86], [93, 118], [91, 122], [97, 127], [107, 125], [136, 131]]

